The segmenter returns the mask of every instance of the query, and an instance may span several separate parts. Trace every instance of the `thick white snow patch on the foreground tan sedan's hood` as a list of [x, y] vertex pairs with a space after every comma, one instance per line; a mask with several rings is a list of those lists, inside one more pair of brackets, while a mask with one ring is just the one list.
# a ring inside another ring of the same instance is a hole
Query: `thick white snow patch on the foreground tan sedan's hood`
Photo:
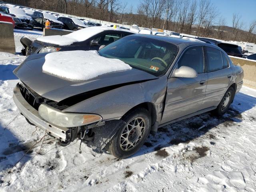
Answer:
[[52, 52], [45, 56], [44, 73], [70, 81], [83, 81], [97, 76], [132, 69], [118, 59], [100, 56], [97, 51]]

